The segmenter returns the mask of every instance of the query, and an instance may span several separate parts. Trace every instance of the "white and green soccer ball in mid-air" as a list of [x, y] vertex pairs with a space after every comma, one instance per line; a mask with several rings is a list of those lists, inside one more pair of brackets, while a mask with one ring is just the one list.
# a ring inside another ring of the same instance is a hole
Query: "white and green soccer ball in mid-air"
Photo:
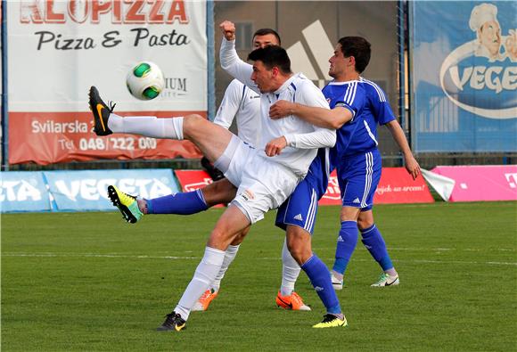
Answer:
[[151, 100], [165, 88], [165, 79], [156, 63], [142, 61], [127, 73], [126, 86], [136, 99]]

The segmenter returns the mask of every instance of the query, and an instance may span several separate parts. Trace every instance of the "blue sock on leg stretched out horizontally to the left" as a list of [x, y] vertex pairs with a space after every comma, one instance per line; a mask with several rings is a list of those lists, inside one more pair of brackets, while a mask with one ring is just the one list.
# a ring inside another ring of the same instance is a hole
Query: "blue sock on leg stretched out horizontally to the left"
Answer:
[[209, 209], [201, 190], [177, 192], [147, 201], [147, 214], [191, 215]]

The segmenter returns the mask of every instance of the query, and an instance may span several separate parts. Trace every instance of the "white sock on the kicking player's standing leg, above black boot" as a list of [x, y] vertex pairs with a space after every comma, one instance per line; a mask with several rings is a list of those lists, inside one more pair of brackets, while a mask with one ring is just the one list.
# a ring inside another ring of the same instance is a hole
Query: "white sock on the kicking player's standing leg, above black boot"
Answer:
[[179, 303], [174, 308], [176, 314], [181, 315], [185, 320], [188, 319], [188, 315], [190, 315], [195, 302], [197, 302], [204, 291], [209, 289], [210, 282], [214, 281], [217, 273], [221, 270], [224, 259], [225, 251], [206, 247], [205, 255], [196, 268], [193, 279], [189, 282]]

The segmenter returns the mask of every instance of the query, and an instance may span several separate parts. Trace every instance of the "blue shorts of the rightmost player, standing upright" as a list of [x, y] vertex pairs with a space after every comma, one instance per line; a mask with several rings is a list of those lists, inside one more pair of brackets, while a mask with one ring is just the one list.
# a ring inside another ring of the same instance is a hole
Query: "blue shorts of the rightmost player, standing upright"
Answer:
[[378, 149], [347, 156], [337, 167], [343, 207], [361, 211], [373, 208], [373, 195], [381, 180], [382, 160]]

